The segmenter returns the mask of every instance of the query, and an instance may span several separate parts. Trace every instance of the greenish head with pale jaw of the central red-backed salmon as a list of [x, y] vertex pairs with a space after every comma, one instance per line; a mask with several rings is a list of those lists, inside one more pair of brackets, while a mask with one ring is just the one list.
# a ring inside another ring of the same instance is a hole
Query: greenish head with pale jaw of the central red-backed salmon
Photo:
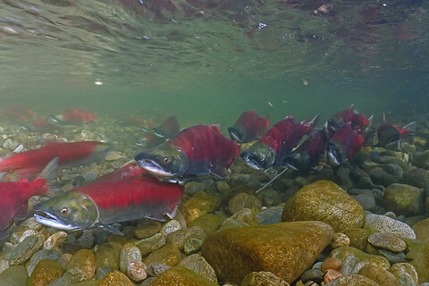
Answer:
[[140, 152], [135, 160], [139, 166], [156, 176], [181, 176], [189, 166], [188, 156], [178, 147], [162, 144]]

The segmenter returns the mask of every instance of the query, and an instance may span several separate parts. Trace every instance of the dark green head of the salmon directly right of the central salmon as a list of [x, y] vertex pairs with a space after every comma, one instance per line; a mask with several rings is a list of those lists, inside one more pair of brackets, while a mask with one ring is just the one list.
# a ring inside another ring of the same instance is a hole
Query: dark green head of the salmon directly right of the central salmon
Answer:
[[264, 143], [256, 142], [241, 152], [240, 156], [249, 167], [266, 170], [274, 164], [275, 151]]

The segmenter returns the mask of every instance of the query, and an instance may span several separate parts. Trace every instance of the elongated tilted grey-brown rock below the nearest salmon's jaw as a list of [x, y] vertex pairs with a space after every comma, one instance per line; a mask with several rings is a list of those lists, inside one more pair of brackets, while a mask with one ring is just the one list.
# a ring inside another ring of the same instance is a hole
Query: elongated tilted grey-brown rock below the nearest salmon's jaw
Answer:
[[30, 235], [22, 240], [13, 248], [11, 257], [9, 258], [9, 265], [21, 265], [29, 257], [38, 251], [43, 244], [43, 238], [40, 234]]

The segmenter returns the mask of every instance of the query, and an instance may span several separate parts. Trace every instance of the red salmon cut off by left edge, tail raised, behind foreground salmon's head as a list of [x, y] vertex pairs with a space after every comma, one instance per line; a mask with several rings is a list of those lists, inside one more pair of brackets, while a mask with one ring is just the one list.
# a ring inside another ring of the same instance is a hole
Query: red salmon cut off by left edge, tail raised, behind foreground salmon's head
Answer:
[[0, 182], [0, 239], [7, 237], [4, 229], [13, 219], [26, 217], [29, 198], [46, 193], [49, 189], [48, 182], [55, 178], [57, 170], [58, 158], [55, 158], [33, 181], [21, 179], [20, 181]]

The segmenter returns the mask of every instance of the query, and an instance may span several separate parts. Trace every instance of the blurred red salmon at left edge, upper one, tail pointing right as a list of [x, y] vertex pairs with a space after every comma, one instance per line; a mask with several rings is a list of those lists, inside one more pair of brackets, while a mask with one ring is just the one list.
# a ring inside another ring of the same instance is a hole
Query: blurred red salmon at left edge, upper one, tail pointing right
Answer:
[[49, 143], [0, 159], [0, 172], [17, 171], [23, 177], [31, 177], [55, 157], [59, 158], [60, 169], [71, 168], [102, 160], [112, 149], [111, 145], [97, 141]]

